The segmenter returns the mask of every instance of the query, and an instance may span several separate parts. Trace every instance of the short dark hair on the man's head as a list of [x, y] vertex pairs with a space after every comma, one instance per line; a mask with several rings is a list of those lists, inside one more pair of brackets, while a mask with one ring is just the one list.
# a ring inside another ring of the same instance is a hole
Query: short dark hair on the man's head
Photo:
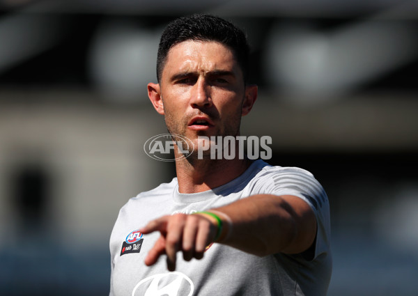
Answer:
[[162, 32], [157, 54], [157, 79], [160, 82], [167, 54], [174, 45], [187, 40], [217, 41], [232, 50], [247, 82], [249, 44], [237, 26], [213, 15], [189, 15], [173, 20]]

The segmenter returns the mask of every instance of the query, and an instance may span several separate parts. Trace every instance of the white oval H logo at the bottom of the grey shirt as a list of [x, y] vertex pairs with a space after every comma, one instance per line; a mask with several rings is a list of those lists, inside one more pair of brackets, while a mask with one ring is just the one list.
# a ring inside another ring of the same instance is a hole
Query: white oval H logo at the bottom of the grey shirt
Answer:
[[191, 296], [193, 290], [193, 282], [187, 275], [181, 272], [167, 272], [139, 281], [132, 290], [132, 296]]

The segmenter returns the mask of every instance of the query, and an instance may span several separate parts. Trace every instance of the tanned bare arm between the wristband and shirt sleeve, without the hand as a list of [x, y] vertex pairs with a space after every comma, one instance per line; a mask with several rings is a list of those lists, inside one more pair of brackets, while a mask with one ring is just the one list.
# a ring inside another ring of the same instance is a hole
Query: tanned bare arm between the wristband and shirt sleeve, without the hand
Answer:
[[314, 212], [296, 196], [260, 194], [213, 210], [223, 220], [217, 242], [257, 256], [297, 254], [315, 239]]

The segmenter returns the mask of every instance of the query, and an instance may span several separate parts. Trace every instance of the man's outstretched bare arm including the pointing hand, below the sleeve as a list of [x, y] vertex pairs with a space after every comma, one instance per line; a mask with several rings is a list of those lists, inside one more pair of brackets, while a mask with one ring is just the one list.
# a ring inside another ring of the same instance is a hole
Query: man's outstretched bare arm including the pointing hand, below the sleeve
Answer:
[[218, 221], [205, 212], [166, 215], [141, 228], [144, 234], [161, 234], [146, 256], [146, 265], [155, 264], [166, 254], [168, 269], [175, 270], [178, 251], [183, 252], [185, 260], [201, 259], [205, 247], [215, 240], [257, 256], [301, 253], [315, 240], [314, 212], [296, 196], [249, 196], [209, 211], [217, 213], [222, 221], [218, 239]]

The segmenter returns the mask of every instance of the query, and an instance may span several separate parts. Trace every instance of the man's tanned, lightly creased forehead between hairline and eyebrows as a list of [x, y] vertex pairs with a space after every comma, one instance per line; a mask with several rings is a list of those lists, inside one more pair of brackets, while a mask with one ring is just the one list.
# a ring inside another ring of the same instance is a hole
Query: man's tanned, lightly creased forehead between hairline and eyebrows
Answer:
[[174, 45], [167, 54], [162, 75], [172, 72], [229, 70], [242, 75], [229, 47], [216, 41], [187, 40]]

